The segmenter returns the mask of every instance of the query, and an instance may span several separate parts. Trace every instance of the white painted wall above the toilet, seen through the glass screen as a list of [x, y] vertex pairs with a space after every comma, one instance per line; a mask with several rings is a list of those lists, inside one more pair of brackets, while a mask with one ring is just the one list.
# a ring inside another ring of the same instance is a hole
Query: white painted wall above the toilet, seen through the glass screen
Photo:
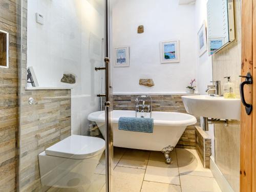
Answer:
[[[28, 67], [33, 66], [39, 87], [72, 87], [72, 133], [87, 134], [87, 116], [98, 111], [104, 36], [103, 1], [28, 1]], [[35, 22], [35, 13], [44, 25]], [[98, 55], [97, 55], [98, 54]], [[61, 83], [63, 73], [77, 76], [76, 84]]]

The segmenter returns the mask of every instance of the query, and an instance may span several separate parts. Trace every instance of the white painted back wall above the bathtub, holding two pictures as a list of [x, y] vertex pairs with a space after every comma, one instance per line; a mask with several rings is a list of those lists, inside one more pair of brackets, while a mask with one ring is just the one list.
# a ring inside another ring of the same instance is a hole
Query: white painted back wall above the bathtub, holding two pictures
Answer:
[[[144, 25], [144, 33], [137, 27]], [[130, 47], [130, 67], [114, 68], [114, 93], [185, 93], [196, 78], [197, 38], [195, 6], [178, 0], [119, 0], [113, 5], [112, 33], [115, 46]], [[160, 41], [180, 40], [180, 62], [160, 63]], [[153, 78], [155, 86], [139, 85]]]

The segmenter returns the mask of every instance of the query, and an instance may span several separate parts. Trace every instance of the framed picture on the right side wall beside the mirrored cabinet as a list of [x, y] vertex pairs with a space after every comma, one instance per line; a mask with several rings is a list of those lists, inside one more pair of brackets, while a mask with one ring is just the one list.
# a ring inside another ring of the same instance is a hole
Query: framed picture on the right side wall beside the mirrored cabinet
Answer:
[[197, 33], [198, 36], [198, 56], [202, 56], [207, 51], [207, 38], [205, 22]]

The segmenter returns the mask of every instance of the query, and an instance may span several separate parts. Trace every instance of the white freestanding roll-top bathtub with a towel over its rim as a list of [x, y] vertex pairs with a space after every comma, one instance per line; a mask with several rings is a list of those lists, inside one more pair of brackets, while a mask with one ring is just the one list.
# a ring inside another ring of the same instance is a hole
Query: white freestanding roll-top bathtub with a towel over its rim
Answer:
[[[140, 133], [118, 130], [119, 117], [135, 117], [135, 111], [113, 111], [114, 146], [136, 148], [139, 150], [162, 151], [164, 147], [175, 147], [186, 126], [193, 125], [197, 119], [189, 114], [175, 112], [152, 112], [153, 133]], [[105, 112], [91, 113], [88, 120], [95, 121], [103, 137], [105, 136]]]

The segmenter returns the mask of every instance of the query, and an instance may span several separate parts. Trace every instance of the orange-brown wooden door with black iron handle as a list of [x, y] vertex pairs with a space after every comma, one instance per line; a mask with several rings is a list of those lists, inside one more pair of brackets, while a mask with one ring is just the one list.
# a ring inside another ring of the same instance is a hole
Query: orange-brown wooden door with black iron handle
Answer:
[[[256, 192], [256, 0], [242, 1], [242, 65], [241, 74], [252, 75], [253, 84], [244, 89], [245, 100], [252, 103], [252, 113], [247, 115], [242, 105], [240, 191]], [[244, 81], [245, 79], [242, 79]]]

